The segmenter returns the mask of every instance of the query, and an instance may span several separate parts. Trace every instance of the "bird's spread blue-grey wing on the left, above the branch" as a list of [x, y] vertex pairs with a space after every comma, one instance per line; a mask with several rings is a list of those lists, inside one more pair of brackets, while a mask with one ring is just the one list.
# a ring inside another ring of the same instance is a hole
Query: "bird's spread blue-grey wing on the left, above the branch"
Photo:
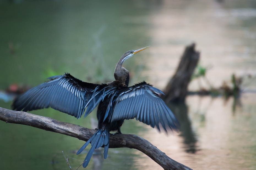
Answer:
[[107, 94], [105, 84], [86, 83], [68, 73], [49, 77], [40, 84], [18, 96], [13, 109], [24, 112], [48, 108], [80, 118], [87, 107], [87, 116]]

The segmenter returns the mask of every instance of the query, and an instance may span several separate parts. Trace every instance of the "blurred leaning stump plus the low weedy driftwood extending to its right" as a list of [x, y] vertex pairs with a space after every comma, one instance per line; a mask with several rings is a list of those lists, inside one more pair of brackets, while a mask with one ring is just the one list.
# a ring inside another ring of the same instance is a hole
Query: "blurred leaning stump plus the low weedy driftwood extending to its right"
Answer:
[[[227, 82], [223, 81], [222, 86], [219, 88], [213, 87], [209, 80], [206, 78], [206, 68], [198, 66], [201, 69], [204, 69], [203, 75], [194, 73], [195, 68], [197, 67], [197, 63], [200, 58], [200, 53], [195, 51], [195, 44], [191, 44], [186, 47], [179, 66], [176, 70], [175, 75], [170, 79], [167, 86], [163, 90], [165, 96], [162, 96], [162, 99], [166, 103], [184, 103], [186, 95], [211, 95], [211, 96], [224, 96], [228, 98], [233, 96], [234, 98], [239, 97], [239, 93], [241, 92], [241, 84], [243, 77], [237, 77], [235, 74], [231, 76], [232, 87], [228, 85]], [[200, 72], [200, 71], [199, 71]], [[199, 81], [199, 90], [198, 91], [188, 91], [189, 82], [192, 78], [200, 78], [202, 77], [209, 88], [206, 89], [201, 87], [200, 79]]]

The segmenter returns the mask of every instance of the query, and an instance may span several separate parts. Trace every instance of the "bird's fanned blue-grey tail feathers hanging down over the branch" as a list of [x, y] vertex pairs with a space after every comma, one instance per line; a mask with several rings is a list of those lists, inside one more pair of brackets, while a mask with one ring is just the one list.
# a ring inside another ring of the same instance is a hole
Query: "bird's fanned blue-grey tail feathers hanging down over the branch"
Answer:
[[77, 155], [80, 154], [86, 146], [91, 143], [91, 149], [89, 150], [88, 154], [85, 157], [83, 167], [85, 168], [94, 152], [94, 149], [97, 149], [101, 146], [104, 146], [104, 159], [107, 158], [108, 155], [108, 146], [109, 146], [109, 130], [107, 129], [99, 129], [86, 143], [83, 145], [79, 151], [77, 152]]

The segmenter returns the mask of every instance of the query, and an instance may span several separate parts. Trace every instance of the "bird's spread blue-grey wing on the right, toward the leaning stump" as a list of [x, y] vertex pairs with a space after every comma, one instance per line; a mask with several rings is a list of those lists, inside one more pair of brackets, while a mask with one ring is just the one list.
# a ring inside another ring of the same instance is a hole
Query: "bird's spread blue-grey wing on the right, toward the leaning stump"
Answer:
[[113, 99], [110, 121], [136, 118], [152, 128], [156, 126], [159, 131], [159, 125], [166, 132], [167, 129], [176, 130], [178, 121], [160, 98], [159, 94], [164, 94], [161, 90], [142, 82], [118, 91], [118, 97]]

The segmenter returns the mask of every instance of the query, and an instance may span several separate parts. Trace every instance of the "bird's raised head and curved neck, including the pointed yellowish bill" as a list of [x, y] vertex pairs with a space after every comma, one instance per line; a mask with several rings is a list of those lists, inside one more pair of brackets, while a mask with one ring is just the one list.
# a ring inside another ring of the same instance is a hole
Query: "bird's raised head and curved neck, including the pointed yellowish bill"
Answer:
[[127, 60], [128, 58], [130, 58], [131, 56], [133, 56], [134, 54], [136, 54], [142, 50], [145, 50], [148, 47], [149, 46], [138, 49], [138, 50], [130, 50], [130, 51], [125, 52], [124, 55], [120, 58], [120, 60], [116, 64], [116, 69], [115, 69], [115, 73], [114, 73], [115, 80], [121, 81], [122, 83], [126, 84], [126, 86], [128, 86], [129, 72], [124, 67], [122, 67], [124, 61]]

